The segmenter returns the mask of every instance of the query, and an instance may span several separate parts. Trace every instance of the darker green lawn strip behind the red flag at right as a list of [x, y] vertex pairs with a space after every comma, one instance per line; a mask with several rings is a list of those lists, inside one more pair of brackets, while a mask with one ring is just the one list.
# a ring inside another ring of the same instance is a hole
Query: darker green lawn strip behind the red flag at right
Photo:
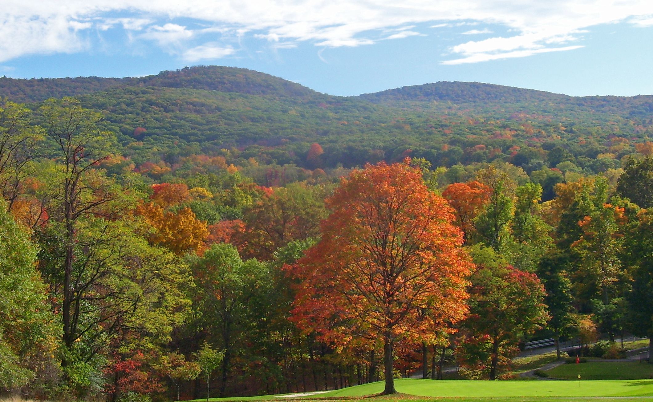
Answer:
[[549, 377], [576, 380], [643, 380], [653, 379], [653, 364], [639, 362], [587, 362], [561, 364], [545, 371]]

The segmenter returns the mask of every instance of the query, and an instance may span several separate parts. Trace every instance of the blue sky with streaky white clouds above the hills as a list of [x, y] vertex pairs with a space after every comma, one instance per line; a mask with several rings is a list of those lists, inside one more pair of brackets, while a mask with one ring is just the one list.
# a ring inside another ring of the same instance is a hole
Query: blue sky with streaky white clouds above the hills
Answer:
[[653, 94], [652, 0], [3, 0], [0, 75], [249, 68], [334, 95], [477, 81]]

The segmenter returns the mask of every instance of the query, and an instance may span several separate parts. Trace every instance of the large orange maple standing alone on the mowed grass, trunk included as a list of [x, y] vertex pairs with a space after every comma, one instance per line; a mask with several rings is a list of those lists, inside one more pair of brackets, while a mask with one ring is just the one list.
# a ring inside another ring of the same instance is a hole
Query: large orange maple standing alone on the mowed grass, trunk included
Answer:
[[287, 267], [298, 280], [293, 320], [339, 347], [382, 344], [392, 394], [395, 343], [435, 342], [466, 315], [472, 264], [462, 233], [406, 162], [355, 170], [326, 202], [321, 241]]

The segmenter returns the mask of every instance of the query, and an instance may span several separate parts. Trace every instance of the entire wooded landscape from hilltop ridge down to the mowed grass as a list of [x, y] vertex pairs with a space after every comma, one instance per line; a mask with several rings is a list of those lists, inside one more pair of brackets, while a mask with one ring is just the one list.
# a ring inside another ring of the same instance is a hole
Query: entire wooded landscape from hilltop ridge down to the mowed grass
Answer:
[[653, 337], [653, 96], [197, 66], [0, 98], [0, 390], [503, 379], [530, 339]]

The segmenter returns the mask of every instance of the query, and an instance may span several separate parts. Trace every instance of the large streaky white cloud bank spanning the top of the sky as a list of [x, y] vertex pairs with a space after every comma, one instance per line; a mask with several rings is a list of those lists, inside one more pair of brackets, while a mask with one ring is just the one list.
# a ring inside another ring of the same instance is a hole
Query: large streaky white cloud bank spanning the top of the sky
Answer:
[[[116, 13], [129, 18], [115, 18]], [[184, 25], [174, 23], [181, 20]], [[228, 49], [235, 42], [227, 39], [247, 35], [281, 46], [308, 42], [338, 47], [374, 44], [379, 31], [396, 39], [421, 35], [419, 24], [434, 24], [433, 28], [491, 24], [509, 33], [449, 49], [453, 60], [445, 64], [470, 63], [577, 48], [582, 31], [616, 22], [653, 26], [653, 1], [3, 0], [0, 37], [11, 40], [0, 43], [0, 62], [27, 54], [83, 50], [88, 44], [80, 31], [91, 25], [99, 31], [121, 27], [133, 40], [150, 40], [178, 55], [205, 46], [198, 46], [202, 42], [219, 42], [214, 48]], [[487, 29], [467, 31], [481, 33], [491, 34]]]

